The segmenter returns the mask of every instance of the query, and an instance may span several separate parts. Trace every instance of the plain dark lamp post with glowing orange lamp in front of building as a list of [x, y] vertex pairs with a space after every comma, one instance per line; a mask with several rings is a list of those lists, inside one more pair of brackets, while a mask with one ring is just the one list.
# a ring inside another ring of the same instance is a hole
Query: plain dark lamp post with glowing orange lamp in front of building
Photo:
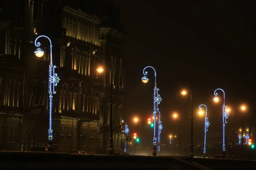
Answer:
[[[97, 57], [97, 61], [100, 62], [100, 57], [102, 57], [102, 55], [105, 55], [108, 57], [109, 61], [110, 61], [110, 142], [109, 142], [109, 154], [113, 154], [114, 150], [113, 150], [113, 103], [112, 103], [112, 91], [113, 91], [113, 83], [112, 83], [112, 63], [111, 63], [111, 58], [107, 55], [107, 54], [100, 54]], [[103, 68], [97, 68], [96, 71], [98, 73], [102, 73], [104, 71]]]

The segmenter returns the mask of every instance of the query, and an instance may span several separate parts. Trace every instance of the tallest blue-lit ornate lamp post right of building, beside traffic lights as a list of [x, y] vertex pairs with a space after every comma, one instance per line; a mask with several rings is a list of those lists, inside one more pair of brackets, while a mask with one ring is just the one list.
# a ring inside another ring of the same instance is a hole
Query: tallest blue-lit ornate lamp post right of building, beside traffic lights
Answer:
[[[146, 75], [148, 74], [147, 71], [145, 71], [146, 68], [152, 68], [154, 70], [154, 77], [155, 77], [155, 83], [154, 83], [154, 97], [153, 97], [153, 102], [154, 102], [154, 111], [153, 111], [153, 115], [154, 115], [154, 137], [153, 137], [153, 156], [157, 155], [157, 151], [160, 151], [160, 145], [157, 146], [157, 142], [160, 143], [160, 133], [161, 130], [163, 129], [163, 126], [161, 125], [161, 120], [160, 120], [160, 112], [159, 112], [159, 108], [158, 105], [160, 104], [160, 102], [162, 101], [162, 98], [160, 97], [160, 94], [158, 94], [159, 88], [157, 88], [157, 73], [156, 70], [151, 67], [151, 66], [147, 66], [143, 69], [143, 74], [145, 75], [144, 77], [141, 78], [142, 82], [147, 83], [148, 82], [148, 78], [146, 77]], [[156, 138], [156, 116], [157, 113], [159, 113], [159, 120], [158, 120], [158, 140]], [[157, 150], [156, 150], [157, 147]]]

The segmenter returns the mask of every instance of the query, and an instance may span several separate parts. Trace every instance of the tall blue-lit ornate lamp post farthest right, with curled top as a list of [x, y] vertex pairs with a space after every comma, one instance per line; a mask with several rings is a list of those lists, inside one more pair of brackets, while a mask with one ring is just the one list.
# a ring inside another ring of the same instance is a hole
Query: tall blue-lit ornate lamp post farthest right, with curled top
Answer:
[[227, 118], [229, 116], [229, 113], [227, 112], [227, 106], [225, 106], [225, 92], [221, 88], [217, 88], [214, 91], [215, 98], [213, 99], [214, 102], [218, 102], [219, 98], [217, 97], [218, 93], [216, 91], [222, 91], [223, 92], [223, 105], [222, 105], [222, 151], [223, 151], [223, 158], [225, 158], [225, 152], [226, 152], [226, 144], [225, 144], [225, 124], [227, 123]]

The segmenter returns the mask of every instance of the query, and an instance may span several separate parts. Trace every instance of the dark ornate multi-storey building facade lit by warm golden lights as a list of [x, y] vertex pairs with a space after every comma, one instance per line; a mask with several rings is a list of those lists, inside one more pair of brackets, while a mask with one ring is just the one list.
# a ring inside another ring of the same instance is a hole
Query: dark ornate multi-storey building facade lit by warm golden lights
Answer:
[[[34, 55], [35, 38], [43, 34], [52, 40], [52, 61], [61, 79], [53, 96], [53, 149], [107, 153], [113, 83], [114, 150], [122, 152], [126, 37], [108, 17], [68, 1], [13, 1], [0, 3], [0, 150], [47, 144], [49, 41], [39, 39], [45, 53]], [[97, 73], [98, 66], [103, 73]]]

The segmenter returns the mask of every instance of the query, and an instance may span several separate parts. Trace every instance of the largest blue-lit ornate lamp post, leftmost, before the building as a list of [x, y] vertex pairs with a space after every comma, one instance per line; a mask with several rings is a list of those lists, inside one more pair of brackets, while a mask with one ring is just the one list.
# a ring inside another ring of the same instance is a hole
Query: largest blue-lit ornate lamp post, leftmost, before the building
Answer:
[[[55, 86], [57, 86], [58, 82], [60, 81], [58, 75], [54, 72], [54, 69], [56, 68], [55, 65], [52, 65], [52, 41], [49, 39], [49, 37], [45, 35], [41, 35], [35, 39], [35, 46], [38, 47], [37, 50], [34, 52], [37, 57], [42, 57], [44, 55], [44, 51], [39, 48], [41, 43], [37, 40], [41, 37], [45, 37], [50, 42], [50, 65], [49, 65], [49, 82], [48, 82], [48, 93], [49, 93], [49, 128], [48, 128], [48, 144], [52, 145], [52, 139], [53, 139], [53, 130], [52, 130], [52, 100], [53, 100], [53, 94], [56, 94]], [[52, 147], [51, 151], [52, 151]]]

